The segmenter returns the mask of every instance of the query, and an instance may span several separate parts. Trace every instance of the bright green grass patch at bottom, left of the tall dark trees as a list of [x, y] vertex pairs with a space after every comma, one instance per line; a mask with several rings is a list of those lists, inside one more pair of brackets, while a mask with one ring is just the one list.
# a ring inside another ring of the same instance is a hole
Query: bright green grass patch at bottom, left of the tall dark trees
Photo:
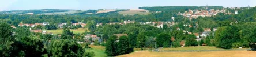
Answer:
[[105, 47], [102, 46], [90, 46], [91, 48], [86, 48], [86, 52], [94, 52], [95, 57], [106, 57]]

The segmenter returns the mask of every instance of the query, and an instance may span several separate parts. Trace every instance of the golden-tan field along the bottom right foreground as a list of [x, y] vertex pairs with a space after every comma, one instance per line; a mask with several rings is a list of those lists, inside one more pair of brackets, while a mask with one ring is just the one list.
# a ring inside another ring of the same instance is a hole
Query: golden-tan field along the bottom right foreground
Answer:
[[255, 51], [150, 52], [137, 51], [119, 57], [255, 57]]

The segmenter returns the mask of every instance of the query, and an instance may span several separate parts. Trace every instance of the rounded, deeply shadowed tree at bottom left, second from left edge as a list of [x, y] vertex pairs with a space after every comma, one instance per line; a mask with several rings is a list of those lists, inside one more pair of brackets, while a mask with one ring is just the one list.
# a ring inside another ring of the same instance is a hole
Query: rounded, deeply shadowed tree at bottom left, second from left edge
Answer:
[[42, 56], [47, 53], [42, 40], [35, 35], [21, 38], [20, 40], [15, 41], [11, 47], [11, 56]]

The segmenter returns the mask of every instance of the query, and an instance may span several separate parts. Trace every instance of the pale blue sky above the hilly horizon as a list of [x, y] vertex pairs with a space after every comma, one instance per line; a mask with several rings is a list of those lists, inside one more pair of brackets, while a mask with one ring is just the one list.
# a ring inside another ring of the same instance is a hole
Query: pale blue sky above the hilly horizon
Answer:
[[256, 0], [0, 0], [0, 11], [32, 9], [138, 9], [142, 6], [255, 7]]

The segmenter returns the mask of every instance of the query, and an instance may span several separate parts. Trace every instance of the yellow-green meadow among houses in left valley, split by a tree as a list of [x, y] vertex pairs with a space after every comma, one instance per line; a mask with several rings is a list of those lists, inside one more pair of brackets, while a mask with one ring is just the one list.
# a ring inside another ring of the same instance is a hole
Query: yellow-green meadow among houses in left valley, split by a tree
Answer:
[[[74, 32], [74, 34], [82, 34], [87, 30], [86, 28], [78, 28], [78, 29], [70, 29], [71, 31]], [[57, 29], [57, 30], [46, 30], [47, 32], [52, 32], [53, 34], [62, 34], [62, 29]]]

